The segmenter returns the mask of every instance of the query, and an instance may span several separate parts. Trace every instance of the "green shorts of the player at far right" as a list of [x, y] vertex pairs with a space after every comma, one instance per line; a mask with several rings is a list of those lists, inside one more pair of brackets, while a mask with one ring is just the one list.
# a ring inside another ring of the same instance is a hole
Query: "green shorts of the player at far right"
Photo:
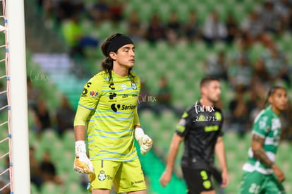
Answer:
[[284, 186], [279, 183], [274, 174], [261, 174], [258, 171], [243, 171], [241, 181], [241, 194], [281, 193], [284, 194]]

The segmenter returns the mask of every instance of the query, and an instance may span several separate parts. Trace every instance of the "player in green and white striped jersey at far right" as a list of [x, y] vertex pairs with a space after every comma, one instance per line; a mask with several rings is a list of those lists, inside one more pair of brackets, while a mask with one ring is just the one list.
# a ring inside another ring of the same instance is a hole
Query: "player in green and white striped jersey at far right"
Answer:
[[248, 162], [243, 165], [242, 194], [286, 193], [282, 185], [284, 173], [274, 163], [281, 135], [279, 115], [288, 101], [286, 90], [272, 87], [267, 100], [269, 106], [257, 115], [253, 123]]

